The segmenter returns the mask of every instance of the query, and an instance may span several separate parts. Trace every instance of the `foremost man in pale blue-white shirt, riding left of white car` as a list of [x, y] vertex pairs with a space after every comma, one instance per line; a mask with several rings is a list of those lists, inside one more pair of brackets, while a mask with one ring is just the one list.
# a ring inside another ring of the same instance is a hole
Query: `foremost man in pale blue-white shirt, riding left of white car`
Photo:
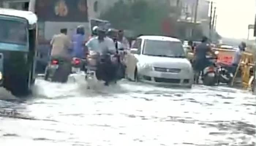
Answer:
[[97, 32], [98, 36], [91, 38], [86, 43], [86, 47], [89, 51], [99, 53], [105, 60], [104, 65], [97, 65], [96, 76], [99, 76], [103, 81], [105, 81], [105, 85], [108, 85], [109, 82], [115, 78], [117, 70], [117, 66], [112, 64], [108, 54], [116, 54], [116, 47], [114, 41], [106, 37], [105, 30], [98, 28]]

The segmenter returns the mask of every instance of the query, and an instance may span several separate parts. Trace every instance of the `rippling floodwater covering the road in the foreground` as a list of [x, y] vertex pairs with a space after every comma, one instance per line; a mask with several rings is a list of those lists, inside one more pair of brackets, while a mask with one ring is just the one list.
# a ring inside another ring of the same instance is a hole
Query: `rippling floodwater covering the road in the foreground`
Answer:
[[255, 96], [244, 91], [125, 80], [95, 91], [79, 82], [36, 85], [29, 99], [0, 100], [26, 117], [0, 117], [1, 146], [255, 145]]

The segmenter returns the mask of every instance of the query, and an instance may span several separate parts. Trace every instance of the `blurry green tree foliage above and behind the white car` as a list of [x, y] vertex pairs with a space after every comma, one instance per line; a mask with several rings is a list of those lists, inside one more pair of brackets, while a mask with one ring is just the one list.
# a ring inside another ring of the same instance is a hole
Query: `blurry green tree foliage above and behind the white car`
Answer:
[[138, 0], [125, 4], [121, 0], [101, 14], [100, 19], [109, 20], [113, 27], [135, 31], [138, 34], [161, 34], [163, 18], [169, 15], [169, 8], [164, 3]]

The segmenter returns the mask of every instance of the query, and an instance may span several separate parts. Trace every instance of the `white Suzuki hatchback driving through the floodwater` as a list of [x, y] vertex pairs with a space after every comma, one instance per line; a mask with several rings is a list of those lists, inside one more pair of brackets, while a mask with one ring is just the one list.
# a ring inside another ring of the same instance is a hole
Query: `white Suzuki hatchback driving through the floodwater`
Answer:
[[194, 74], [180, 40], [141, 36], [126, 56], [126, 76], [133, 81], [191, 88]]

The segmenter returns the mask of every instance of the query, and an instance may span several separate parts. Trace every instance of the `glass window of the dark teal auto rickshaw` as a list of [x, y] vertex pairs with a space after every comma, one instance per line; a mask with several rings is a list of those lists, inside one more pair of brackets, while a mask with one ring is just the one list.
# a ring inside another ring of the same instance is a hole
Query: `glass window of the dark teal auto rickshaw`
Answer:
[[27, 25], [25, 23], [0, 19], [0, 43], [12, 43], [17, 45], [27, 45]]

